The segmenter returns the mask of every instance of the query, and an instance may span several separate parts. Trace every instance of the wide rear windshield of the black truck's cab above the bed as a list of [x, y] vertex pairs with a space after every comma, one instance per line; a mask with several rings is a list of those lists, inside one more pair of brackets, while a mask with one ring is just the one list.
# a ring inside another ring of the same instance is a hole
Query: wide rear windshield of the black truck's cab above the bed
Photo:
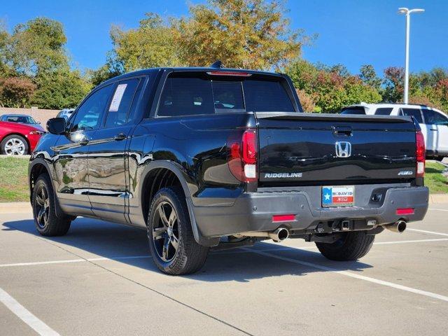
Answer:
[[174, 73], [163, 87], [158, 116], [192, 116], [232, 112], [294, 112], [278, 80], [218, 78]]

